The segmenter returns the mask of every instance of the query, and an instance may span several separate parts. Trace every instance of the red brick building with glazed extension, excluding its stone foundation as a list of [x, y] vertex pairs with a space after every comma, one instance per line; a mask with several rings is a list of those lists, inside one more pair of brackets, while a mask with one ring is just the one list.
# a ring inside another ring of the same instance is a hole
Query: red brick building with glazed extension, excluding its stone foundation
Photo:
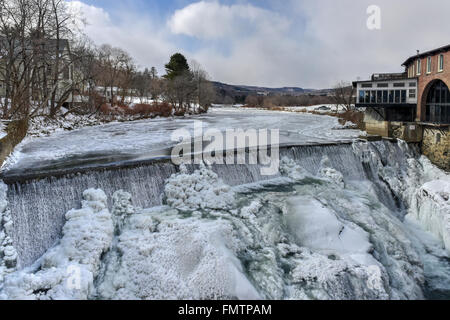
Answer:
[[418, 52], [403, 66], [404, 73], [354, 82], [356, 107], [384, 121], [450, 124], [450, 45]]

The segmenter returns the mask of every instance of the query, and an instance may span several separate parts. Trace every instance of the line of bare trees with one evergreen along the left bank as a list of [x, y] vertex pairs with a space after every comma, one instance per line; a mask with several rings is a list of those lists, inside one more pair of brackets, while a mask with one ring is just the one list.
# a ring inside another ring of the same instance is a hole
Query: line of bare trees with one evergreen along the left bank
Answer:
[[[76, 28], [65, 0], [0, 0], [0, 112], [3, 119], [99, 113], [105, 105], [170, 105], [207, 110], [214, 88], [201, 66], [176, 53], [166, 74], [140, 69], [124, 49], [97, 46]], [[134, 99], [134, 100], [136, 100]]]

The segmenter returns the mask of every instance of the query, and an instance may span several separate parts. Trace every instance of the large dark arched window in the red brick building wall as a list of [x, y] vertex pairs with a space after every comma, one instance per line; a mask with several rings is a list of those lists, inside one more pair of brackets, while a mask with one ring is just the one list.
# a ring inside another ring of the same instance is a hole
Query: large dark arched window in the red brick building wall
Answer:
[[450, 91], [441, 80], [435, 81], [428, 92], [426, 121], [450, 123]]

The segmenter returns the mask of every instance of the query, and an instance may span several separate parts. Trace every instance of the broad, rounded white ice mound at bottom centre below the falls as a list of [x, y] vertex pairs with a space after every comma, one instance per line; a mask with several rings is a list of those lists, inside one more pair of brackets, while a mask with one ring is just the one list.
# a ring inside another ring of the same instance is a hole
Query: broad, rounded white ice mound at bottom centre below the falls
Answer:
[[132, 215], [109, 254], [102, 299], [258, 299], [236, 258], [230, 223], [167, 207]]

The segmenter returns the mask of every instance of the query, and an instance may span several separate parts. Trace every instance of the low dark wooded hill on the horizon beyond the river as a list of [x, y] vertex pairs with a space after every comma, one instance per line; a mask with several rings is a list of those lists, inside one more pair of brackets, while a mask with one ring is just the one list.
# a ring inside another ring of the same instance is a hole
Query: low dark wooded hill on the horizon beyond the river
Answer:
[[267, 88], [247, 85], [231, 85], [222, 82], [212, 82], [216, 89], [216, 103], [244, 103], [249, 95], [259, 96], [301, 96], [305, 94], [311, 95], [326, 95], [332, 89], [304, 89], [298, 87], [282, 87], [282, 88]]

